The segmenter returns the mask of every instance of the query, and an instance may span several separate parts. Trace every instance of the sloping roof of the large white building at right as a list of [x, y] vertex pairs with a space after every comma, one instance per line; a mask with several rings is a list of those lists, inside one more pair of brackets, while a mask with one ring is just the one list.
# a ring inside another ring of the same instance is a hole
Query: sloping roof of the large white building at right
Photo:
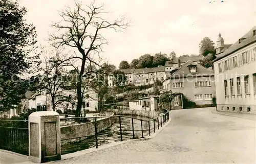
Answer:
[[237, 40], [237, 42], [235, 42], [234, 44], [232, 44], [231, 46], [229, 46], [228, 49], [226, 49], [226, 51], [224, 51], [223, 53], [216, 55], [216, 59], [214, 60], [214, 62], [244, 48], [245, 46], [256, 42], [256, 35], [253, 36], [253, 30], [256, 30], [256, 26], [254, 26], [249, 32], [247, 32], [244, 36], [242, 36], [241, 38], [245, 38], [244, 40], [242, 40], [241, 43], [239, 43], [239, 39]]

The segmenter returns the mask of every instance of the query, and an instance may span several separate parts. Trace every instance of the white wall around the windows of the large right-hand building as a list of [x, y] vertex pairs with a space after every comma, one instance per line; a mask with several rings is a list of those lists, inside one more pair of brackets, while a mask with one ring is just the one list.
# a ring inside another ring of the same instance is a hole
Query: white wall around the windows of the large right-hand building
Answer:
[[[222, 107], [226, 110], [227, 109], [226, 107], [229, 107], [229, 111], [232, 111], [232, 107], [236, 107], [236, 111], [237, 111], [239, 107], [243, 107], [243, 111], [247, 111], [247, 107], [251, 107], [252, 112], [254, 113], [256, 112], [256, 109], [255, 109], [256, 93], [254, 93], [253, 91], [253, 79], [252, 79], [252, 74], [256, 73], [256, 66], [255, 66], [256, 62], [251, 61], [252, 58], [250, 56], [250, 63], [239, 65], [239, 61], [238, 61], [238, 67], [232, 68], [222, 73], [219, 73], [219, 66], [218, 66], [219, 63], [222, 63], [225, 60], [230, 59], [234, 56], [237, 56], [237, 59], [239, 59], [238, 57], [239, 54], [242, 54], [248, 50], [252, 50], [253, 48], [256, 48], [256, 43], [253, 43], [247, 46], [246, 48], [243, 48], [214, 63], [215, 79], [216, 79], [217, 110], [221, 110]], [[250, 94], [248, 95], [245, 94], [244, 76], [246, 75], [249, 75]], [[240, 77], [242, 95], [238, 95], [237, 77]], [[230, 94], [230, 79], [233, 79], [233, 85], [234, 85], [233, 96], [231, 96]], [[224, 80], [227, 80], [228, 96], [225, 96]]]

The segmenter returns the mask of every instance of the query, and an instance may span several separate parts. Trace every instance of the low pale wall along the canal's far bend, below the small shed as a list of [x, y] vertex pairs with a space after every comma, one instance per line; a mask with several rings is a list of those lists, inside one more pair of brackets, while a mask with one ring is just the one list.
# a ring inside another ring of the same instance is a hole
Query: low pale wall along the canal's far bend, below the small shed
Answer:
[[146, 110], [114, 110], [116, 115], [138, 115], [147, 118], [154, 119], [159, 116], [160, 113], [156, 111], [146, 111]]

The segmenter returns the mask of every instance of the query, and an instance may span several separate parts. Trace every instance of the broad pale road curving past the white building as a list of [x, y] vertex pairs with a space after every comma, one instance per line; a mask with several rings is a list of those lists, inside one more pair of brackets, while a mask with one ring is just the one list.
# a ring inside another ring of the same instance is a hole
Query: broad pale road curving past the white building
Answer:
[[211, 110], [172, 111], [155, 138], [53, 163], [255, 163], [255, 121]]

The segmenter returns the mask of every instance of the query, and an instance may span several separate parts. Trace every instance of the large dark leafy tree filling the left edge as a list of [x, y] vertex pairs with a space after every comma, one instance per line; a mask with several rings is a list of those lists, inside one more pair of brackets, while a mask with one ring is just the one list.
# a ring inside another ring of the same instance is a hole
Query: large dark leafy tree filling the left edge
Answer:
[[0, 110], [19, 104], [29, 86], [19, 75], [32, 73], [30, 68], [40, 64], [39, 54], [34, 51], [35, 27], [26, 23], [26, 13], [17, 2], [0, 1]]

